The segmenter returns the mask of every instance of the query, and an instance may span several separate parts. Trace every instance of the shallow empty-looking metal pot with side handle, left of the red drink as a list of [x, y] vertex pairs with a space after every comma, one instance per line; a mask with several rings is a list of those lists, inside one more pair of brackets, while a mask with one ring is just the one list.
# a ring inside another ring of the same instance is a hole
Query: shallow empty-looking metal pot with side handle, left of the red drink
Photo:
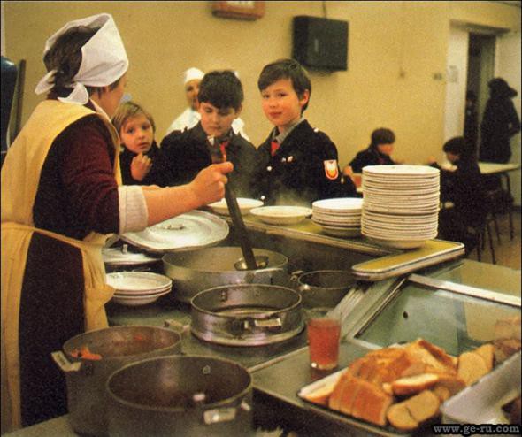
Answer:
[[291, 288], [242, 284], [203, 290], [192, 298], [190, 330], [229, 346], [288, 340], [304, 327], [301, 296]]

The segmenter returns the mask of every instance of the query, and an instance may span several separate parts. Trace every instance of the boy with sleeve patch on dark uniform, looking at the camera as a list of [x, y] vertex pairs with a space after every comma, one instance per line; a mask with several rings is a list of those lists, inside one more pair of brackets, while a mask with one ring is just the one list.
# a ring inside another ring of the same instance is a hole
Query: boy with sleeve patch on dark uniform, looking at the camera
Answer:
[[337, 165], [334, 142], [303, 118], [311, 81], [294, 59], [265, 65], [257, 81], [265, 116], [274, 128], [257, 149], [253, 193], [266, 205], [306, 205], [319, 199], [357, 196]]

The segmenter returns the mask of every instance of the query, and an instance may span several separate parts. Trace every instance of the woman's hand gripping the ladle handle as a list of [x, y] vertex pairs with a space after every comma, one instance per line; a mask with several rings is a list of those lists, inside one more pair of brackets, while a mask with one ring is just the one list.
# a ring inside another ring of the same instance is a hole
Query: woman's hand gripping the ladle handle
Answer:
[[188, 188], [194, 193], [200, 206], [218, 202], [225, 196], [225, 184], [228, 181], [226, 173], [233, 170], [234, 165], [227, 161], [209, 165], [197, 173], [196, 178], [188, 184]]

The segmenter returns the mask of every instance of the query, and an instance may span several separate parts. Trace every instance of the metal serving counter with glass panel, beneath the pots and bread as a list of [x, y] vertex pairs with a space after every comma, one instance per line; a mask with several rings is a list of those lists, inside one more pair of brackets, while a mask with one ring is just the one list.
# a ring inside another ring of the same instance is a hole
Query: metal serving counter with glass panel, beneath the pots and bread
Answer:
[[[165, 295], [156, 303], [124, 307], [109, 303], [111, 326], [171, 326], [182, 333], [182, 353], [232, 359], [254, 380], [256, 427], [282, 426], [299, 435], [395, 435], [301, 399], [298, 391], [346, 367], [369, 350], [422, 337], [457, 356], [493, 340], [498, 318], [520, 314], [520, 271], [461, 259], [462, 245], [429, 242], [413, 250], [385, 249], [360, 238], [336, 238], [305, 220], [295, 226], [264, 225], [245, 219], [254, 248], [289, 259], [289, 270], [340, 269], [357, 278], [334, 311], [342, 316], [340, 365], [311, 369], [306, 334], [265, 346], [234, 347], [201, 341], [190, 334], [190, 306]], [[237, 245], [234, 229], [223, 245]], [[173, 289], [175, 293], [175, 286]], [[306, 310], [303, 310], [306, 318]], [[11, 433], [12, 436], [74, 435], [66, 416]], [[401, 434], [404, 435], [404, 434]]]

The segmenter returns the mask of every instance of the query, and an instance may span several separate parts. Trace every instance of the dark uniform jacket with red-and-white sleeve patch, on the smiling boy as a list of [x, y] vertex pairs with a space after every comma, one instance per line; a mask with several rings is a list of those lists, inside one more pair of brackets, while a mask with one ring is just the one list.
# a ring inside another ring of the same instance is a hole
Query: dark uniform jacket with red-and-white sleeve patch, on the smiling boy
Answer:
[[257, 149], [252, 191], [265, 205], [307, 205], [319, 199], [356, 197], [353, 182], [344, 180], [337, 149], [328, 135], [307, 120], [299, 123], [271, 156], [272, 138]]

